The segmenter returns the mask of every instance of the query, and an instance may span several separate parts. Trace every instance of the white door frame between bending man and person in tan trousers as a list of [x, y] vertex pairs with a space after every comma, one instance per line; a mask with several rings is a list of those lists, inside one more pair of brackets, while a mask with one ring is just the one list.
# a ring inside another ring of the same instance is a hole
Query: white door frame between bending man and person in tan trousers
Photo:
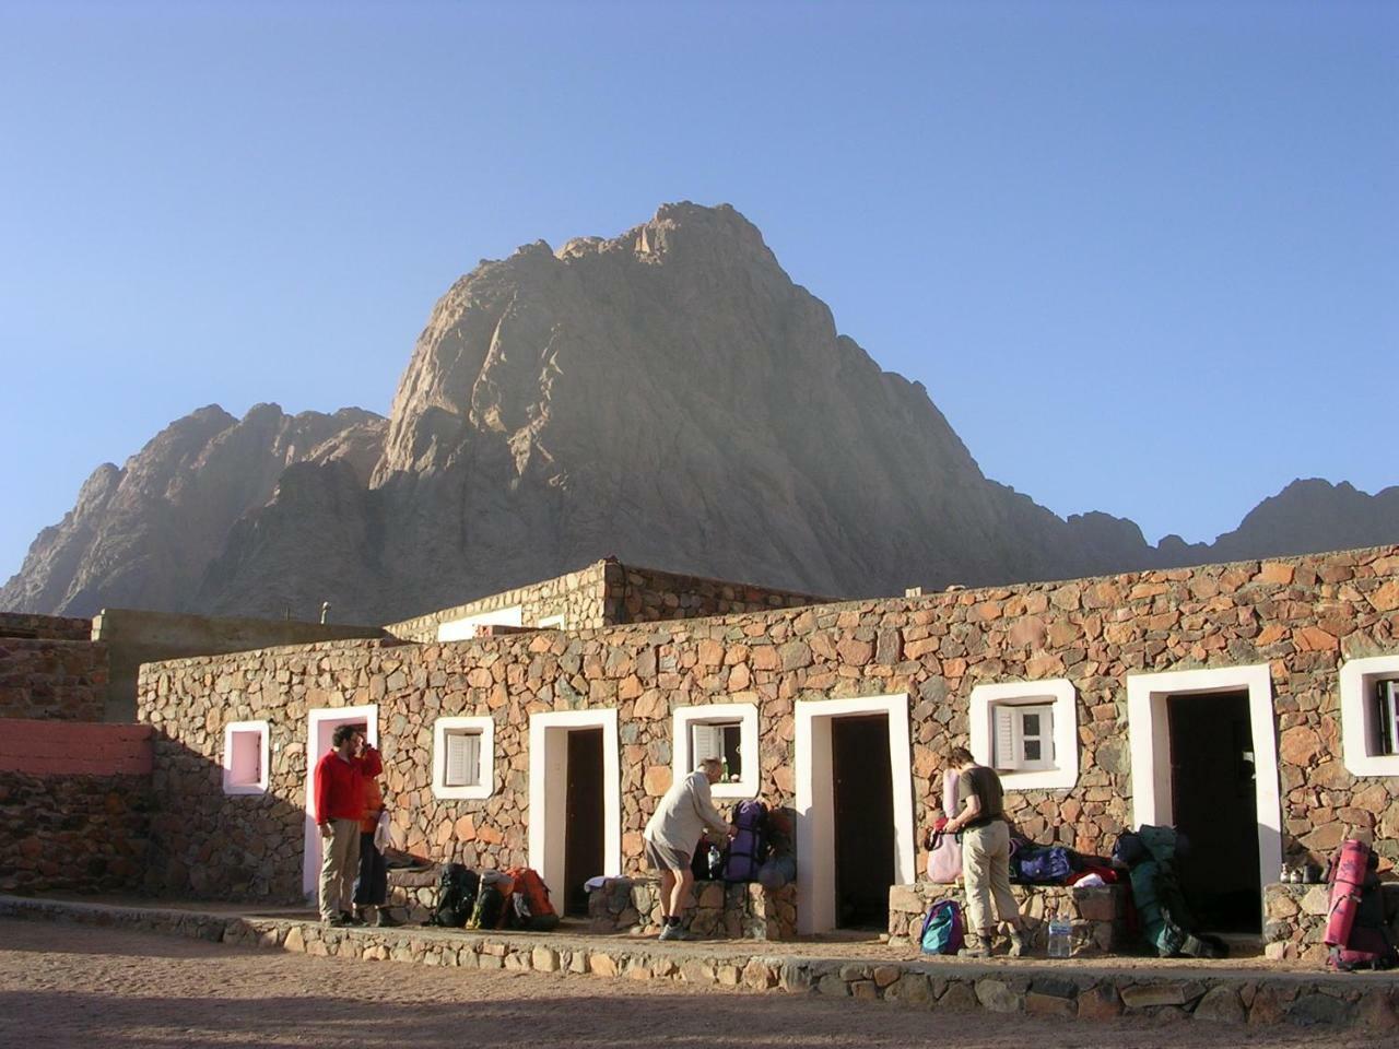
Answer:
[[810, 699], [796, 705], [797, 932], [837, 927], [837, 806], [832, 722], [884, 715], [888, 720], [894, 884], [912, 884], [915, 870], [914, 771], [908, 694]]

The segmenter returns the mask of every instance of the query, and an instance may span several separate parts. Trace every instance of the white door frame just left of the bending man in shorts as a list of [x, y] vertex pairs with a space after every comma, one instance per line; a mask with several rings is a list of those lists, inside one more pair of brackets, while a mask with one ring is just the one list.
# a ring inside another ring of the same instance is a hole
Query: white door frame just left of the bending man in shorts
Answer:
[[560, 711], [534, 713], [529, 719], [529, 866], [550, 887], [554, 905], [564, 912], [568, 883], [569, 734], [602, 730], [602, 870], [593, 874], [621, 874], [621, 754], [617, 741], [617, 711]]

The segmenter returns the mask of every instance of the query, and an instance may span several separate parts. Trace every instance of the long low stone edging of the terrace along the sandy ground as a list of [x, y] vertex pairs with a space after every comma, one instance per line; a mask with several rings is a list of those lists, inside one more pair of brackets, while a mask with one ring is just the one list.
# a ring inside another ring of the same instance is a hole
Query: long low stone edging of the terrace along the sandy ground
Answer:
[[[1105, 964], [992, 966], [946, 961], [758, 954], [726, 944], [660, 944], [529, 933], [327, 929], [319, 922], [0, 897], [0, 918], [70, 920], [238, 947], [565, 978], [672, 980], [758, 992], [884, 1001], [909, 1008], [983, 1008], [1084, 1020], [1170, 1015], [1234, 1025], [1280, 1022], [1399, 1028], [1389, 973], [1123, 971]], [[813, 951], [820, 944], [810, 944]]]

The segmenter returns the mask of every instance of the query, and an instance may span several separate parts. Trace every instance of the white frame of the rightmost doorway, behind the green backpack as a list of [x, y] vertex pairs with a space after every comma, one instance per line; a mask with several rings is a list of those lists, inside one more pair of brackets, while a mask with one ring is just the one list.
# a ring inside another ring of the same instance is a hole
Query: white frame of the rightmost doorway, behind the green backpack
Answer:
[[[1258, 885], [1274, 881], [1283, 863], [1277, 720], [1267, 663], [1214, 670], [1128, 676], [1128, 734], [1132, 747], [1132, 821], [1175, 825], [1170, 702], [1175, 698], [1237, 697], [1248, 704], [1258, 825]], [[1240, 755], [1241, 758], [1244, 755]]]

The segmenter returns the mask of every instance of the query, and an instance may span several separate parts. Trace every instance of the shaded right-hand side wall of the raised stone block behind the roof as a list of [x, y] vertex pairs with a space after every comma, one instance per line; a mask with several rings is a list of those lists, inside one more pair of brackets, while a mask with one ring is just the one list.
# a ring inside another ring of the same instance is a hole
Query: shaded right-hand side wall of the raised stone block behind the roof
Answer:
[[606, 622], [609, 624], [695, 620], [704, 615], [802, 608], [831, 600], [795, 590], [772, 590], [751, 583], [727, 583], [722, 579], [676, 575], [653, 568], [610, 564], [607, 569]]

